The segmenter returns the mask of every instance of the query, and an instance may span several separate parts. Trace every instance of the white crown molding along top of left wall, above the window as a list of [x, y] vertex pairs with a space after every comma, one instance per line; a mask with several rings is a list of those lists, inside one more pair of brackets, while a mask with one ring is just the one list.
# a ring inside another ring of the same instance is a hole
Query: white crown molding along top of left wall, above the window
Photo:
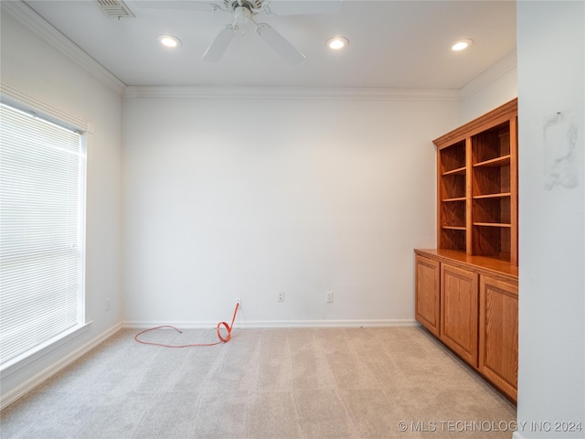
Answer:
[[98, 61], [91, 58], [79, 46], [73, 43], [68, 37], [65, 37], [55, 27], [51, 26], [47, 20], [39, 16], [33, 9], [22, 1], [3, 1], [2, 13], [8, 13], [14, 16], [24, 26], [47, 41], [50, 45], [58, 48], [69, 59], [73, 60], [82, 69], [88, 71], [98, 80], [113, 91], [123, 96], [126, 85], [119, 80], [110, 70], [105, 69]]

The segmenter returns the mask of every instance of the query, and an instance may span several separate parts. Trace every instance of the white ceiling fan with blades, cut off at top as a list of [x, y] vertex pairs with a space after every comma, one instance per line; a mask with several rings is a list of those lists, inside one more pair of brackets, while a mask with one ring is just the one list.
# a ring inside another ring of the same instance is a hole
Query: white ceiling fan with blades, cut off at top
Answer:
[[254, 19], [260, 13], [270, 16], [293, 16], [307, 14], [333, 13], [339, 9], [342, 0], [223, 0], [221, 3], [205, 3], [198, 0], [183, 1], [134, 1], [141, 7], [163, 9], [192, 10], [199, 12], [226, 12], [233, 16], [231, 23], [223, 27], [218, 36], [209, 45], [202, 59], [208, 62], [218, 62], [229, 47], [229, 43], [239, 31], [239, 25], [252, 23], [256, 33], [274, 51], [286, 59], [290, 64], [299, 64], [305, 58], [303, 53], [282, 37], [267, 23], [258, 23]]

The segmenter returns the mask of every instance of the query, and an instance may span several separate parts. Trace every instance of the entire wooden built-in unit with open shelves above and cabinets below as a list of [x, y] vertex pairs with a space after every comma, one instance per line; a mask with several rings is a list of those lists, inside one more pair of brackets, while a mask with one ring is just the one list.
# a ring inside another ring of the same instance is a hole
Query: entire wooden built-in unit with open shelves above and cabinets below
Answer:
[[516, 402], [516, 99], [433, 143], [437, 249], [415, 250], [415, 317]]

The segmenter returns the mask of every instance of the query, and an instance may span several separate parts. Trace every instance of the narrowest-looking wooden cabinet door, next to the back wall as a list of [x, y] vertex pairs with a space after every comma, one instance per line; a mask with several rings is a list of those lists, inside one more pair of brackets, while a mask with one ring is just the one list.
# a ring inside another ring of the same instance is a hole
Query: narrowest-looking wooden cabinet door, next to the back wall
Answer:
[[416, 257], [415, 317], [421, 325], [439, 337], [440, 263], [422, 256]]

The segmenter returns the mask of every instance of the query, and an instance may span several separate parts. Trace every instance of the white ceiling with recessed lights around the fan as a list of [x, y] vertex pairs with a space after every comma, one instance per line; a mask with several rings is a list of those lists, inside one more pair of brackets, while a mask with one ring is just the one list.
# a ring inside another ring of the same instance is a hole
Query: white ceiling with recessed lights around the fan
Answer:
[[[146, 8], [126, 0], [135, 17], [117, 19], [93, 0], [26, 3], [134, 86], [459, 90], [516, 48], [514, 1], [344, 0], [333, 14], [256, 16], [303, 52], [306, 59], [297, 66], [266, 45], [251, 23], [240, 26], [245, 35], [234, 38], [218, 63], [202, 61], [207, 46], [232, 21], [221, 12]], [[164, 33], [179, 37], [182, 47], [163, 48], [157, 36]], [[345, 51], [325, 48], [335, 35], [349, 39]], [[473, 46], [453, 52], [452, 43], [462, 37], [472, 38]]]

